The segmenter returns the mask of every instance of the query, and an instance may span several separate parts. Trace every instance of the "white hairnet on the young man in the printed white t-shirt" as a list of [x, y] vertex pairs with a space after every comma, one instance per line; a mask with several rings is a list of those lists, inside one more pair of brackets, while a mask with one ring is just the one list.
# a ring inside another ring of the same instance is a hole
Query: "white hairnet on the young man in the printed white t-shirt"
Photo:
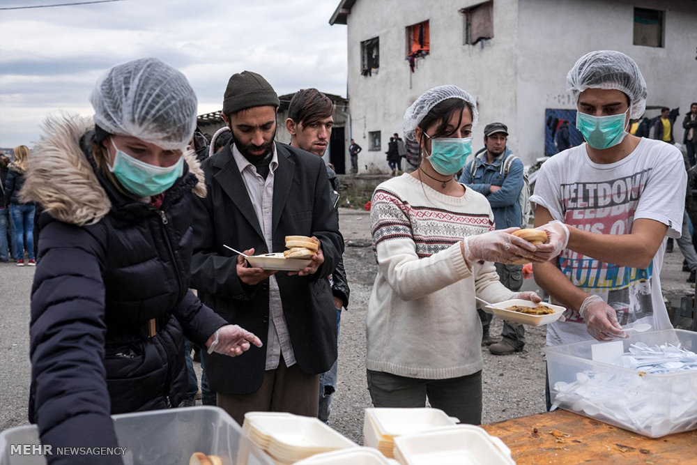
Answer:
[[567, 91], [579, 100], [585, 89], [613, 89], [629, 97], [629, 118], [639, 119], [646, 109], [646, 82], [634, 60], [622, 52], [596, 50], [576, 61], [567, 74]]

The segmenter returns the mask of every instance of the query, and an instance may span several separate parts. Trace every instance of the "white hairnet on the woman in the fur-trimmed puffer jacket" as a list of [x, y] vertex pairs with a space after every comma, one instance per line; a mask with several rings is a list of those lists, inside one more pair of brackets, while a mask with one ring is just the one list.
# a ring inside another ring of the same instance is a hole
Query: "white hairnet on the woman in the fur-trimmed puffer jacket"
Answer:
[[186, 77], [155, 58], [109, 69], [90, 96], [94, 122], [164, 150], [185, 149], [196, 128], [197, 100]]

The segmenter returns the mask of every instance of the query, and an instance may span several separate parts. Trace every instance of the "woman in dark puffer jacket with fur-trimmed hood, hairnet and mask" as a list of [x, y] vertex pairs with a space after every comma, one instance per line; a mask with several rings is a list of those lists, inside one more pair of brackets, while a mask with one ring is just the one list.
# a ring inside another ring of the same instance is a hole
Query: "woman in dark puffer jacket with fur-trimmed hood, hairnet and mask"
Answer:
[[184, 336], [229, 356], [261, 345], [188, 289], [192, 195], [206, 192], [187, 150], [197, 103], [184, 75], [155, 59], [124, 63], [91, 102], [95, 125], [47, 121], [22, 190], [43, 208], [29, 416], [54, 451], [116, 446], [110, 414], [178, 406]]

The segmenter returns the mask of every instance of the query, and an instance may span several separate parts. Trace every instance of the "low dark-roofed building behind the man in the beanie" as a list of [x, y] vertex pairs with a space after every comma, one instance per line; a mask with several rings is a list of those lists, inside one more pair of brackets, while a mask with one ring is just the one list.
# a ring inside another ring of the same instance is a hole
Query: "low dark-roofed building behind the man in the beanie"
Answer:
[[[288, 118], [288, 107], [291, 104], [291, 99], [295, 93], [286, 93], [283, 96], [278, 96], [278, 100], [281, 102], [281, 106], [278, 108], [276, 114], [276, 137], [274, 140], [282, 142], [284, 144], [291, 143], [291, 135], [286, 130], [286, 119]], [[351, 168], [351, 162], [348, 161], [348, 143], [350, 139], [348, 138], [348, 133], [346, 128], [348, 127], [348, 121], [350, 117], [348, 116], [348, 100], [341, 96], [335, 96], [332, 93], [324, 92], [324, 95], [330, 98], [334, 102], [334, 127], [332, 128], [332, 135], [329, 140], [329, 146], [327, 151], [324, 153], [325, 162], [332, 163], [334, 165], [337, 174], [345, 174], [348, 169]], [[221, 111], [201, 114], [197, 117], [197, 125], [199, 130], [208, 136], [215, 134], [215, 131], [222, 128], [225, 123], [222, 121], [222, 116], [220, 116]]]

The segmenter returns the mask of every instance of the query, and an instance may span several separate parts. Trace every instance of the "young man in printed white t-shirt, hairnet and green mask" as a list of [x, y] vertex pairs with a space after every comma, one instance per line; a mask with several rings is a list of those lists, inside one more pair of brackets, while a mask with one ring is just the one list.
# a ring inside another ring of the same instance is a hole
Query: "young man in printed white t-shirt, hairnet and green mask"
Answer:
[[627, 134], [647, 95], [629, 56], [586, 54], [569, 71], [567, 88], [578, 98], [576, 128], [586, 144], [545, 162], [530, 197], [535, 226], [562, 248], [533, 265], [537, 284], [568, 308], [566, 321], [547, 326], [547, 345], [627, 337], [622, 328], [636, 323], [671, 328], [659, 275], [664, 239], [681, 232], [682, 155]]

